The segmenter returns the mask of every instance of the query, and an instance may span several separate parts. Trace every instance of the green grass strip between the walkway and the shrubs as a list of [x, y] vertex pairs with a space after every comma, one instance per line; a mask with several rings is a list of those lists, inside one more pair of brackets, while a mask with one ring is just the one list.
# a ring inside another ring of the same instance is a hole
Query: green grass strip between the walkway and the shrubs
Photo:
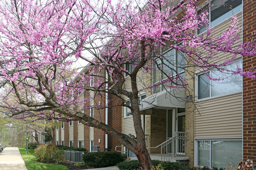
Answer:
[[29, 149], [28, 154], [26, 154], [25, 147], [19, 147], [22, 159], [28, 170], [68, 170], [67, 166], [59, 165], [57, 163], [40, 163], [35, 161], [35, 156], [33, 155], [34, 150]]

